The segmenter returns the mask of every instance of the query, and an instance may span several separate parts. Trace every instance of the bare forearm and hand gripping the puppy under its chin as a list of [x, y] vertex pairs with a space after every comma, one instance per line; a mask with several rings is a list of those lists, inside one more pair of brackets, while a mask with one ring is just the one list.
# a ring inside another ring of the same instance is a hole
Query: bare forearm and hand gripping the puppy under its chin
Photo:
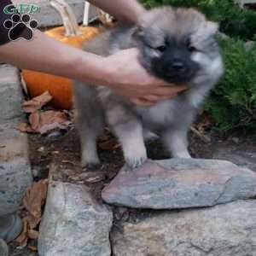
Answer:
[[184, 90], [180, 85], [170, 86], [148, 75], [138, 55], [137, 49], [126, 49], [108, 57], [93, 55], [39, 31], [35, 31], [32, 41], [18, 40], [0, 46], [0, 61], [86, 84], [105, 85], [136, 104], [151, 105]]

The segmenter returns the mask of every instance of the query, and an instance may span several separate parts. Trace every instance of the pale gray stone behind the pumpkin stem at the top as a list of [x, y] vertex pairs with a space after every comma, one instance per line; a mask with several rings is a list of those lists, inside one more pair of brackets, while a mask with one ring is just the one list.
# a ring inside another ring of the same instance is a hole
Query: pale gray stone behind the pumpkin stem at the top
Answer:
[[[49, 0], [32, 0], [31, 3], [37, 3], [40, 6], [40, 11], [32, 15], [32, 18], [38, 20], [41, 27], [44, 26], [60, 26], [62, 25], [61, 15], [59, 15], [53, 7], [50, 6]], [[73, 9], [79, 22], [83, 21], [84, 15], [84, 0], [67, 0], [66, 1]], [[29, 1], [26, 1], [29, 3]], [[90, 20], [96, 18], [96, 9], [91, 6]]]

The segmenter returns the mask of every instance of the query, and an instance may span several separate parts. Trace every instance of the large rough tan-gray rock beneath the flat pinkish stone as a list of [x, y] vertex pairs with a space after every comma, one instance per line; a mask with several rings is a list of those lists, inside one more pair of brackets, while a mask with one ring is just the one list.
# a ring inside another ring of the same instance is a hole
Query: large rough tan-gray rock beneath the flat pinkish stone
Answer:
[[255, 256], [256, 201], [155, 212], [111, 238], [114, 256]]

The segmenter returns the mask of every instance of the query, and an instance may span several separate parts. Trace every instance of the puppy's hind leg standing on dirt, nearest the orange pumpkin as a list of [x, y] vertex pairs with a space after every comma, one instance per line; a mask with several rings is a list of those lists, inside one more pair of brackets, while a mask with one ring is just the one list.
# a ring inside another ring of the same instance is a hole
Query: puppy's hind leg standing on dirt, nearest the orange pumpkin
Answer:
[[97, 154], [96, 142], [104, 128], [102, 106], [97, 100], [96, 89], [90, 85], [76, 83], [74, 96], [82, 166], [88, 169], [96, 169], [101, 164]]

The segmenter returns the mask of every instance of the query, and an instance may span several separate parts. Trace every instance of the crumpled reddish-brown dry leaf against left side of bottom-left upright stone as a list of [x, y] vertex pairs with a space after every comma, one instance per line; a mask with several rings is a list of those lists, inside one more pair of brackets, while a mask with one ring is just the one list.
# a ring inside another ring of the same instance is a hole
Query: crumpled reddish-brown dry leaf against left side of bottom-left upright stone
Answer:
[[23, 200], [23, 206], [26, 209], [26, 217], [23, 218], [23, 231], [16, 241], [20, 247], [25, 247], [28, 238], [38, 239], [38, 224], [42, 218], [42, 207], [44, 206], [48, 189], [48, 180], [43, 179], [34, 183], [32, 187], [26, 189], [26, 195]]

